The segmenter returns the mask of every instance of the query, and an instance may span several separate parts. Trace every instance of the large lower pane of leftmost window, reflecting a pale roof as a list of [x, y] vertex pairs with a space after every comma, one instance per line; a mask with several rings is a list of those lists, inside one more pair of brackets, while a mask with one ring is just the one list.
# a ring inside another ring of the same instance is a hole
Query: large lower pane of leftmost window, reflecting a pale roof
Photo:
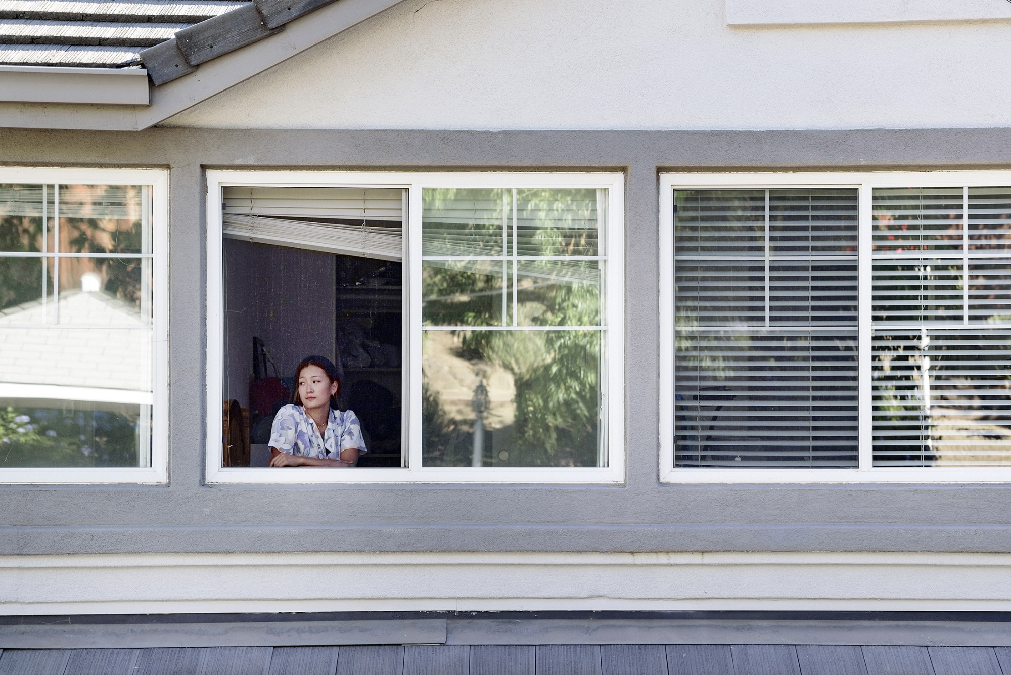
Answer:
[[151, 380], [149, 329], [0, 327], [0, 466], [150, 466]]

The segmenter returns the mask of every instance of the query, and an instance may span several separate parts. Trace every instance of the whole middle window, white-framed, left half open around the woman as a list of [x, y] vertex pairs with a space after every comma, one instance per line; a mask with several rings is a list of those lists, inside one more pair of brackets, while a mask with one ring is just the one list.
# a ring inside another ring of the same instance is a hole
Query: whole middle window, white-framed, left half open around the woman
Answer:
[[[620, 176], [208, 186], [209, 481], [624, 478]], [[360, 423], [353, 467], [269, 466], [309, 355], [338, 371], [334, 414]]]

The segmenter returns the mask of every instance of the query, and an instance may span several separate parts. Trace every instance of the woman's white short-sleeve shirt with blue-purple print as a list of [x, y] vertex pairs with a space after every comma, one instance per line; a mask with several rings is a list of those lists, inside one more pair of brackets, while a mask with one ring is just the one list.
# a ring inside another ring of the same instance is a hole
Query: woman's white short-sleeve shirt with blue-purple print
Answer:
[[341, 459], [341, 451], [357, 448], [365, 454], [365, 439], [358, 416], [351, 410], [331, 408], [327, 430], [323, 438], [312, 418], [300, 405], [288, 404], [277, 411], [270, 430], [270, 447], [288, 455], [304, 455], [315, 459]]

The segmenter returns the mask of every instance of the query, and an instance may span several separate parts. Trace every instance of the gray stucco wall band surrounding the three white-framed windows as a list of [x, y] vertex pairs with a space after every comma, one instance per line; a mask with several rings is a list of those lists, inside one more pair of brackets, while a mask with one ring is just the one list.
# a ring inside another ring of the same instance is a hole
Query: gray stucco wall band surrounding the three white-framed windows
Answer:
[[[170, 167], [172, 285], [169, 485], [0, 487], [0, 554], [1011, 551], [1011, 485], [661, 485], [656, 405], [658, 171], [1005, 168], [1011, 129], [0, 129], [0, 163]], [[624, 485], [203, 484], [202, 171], [310, 167], [626, 172]]]

